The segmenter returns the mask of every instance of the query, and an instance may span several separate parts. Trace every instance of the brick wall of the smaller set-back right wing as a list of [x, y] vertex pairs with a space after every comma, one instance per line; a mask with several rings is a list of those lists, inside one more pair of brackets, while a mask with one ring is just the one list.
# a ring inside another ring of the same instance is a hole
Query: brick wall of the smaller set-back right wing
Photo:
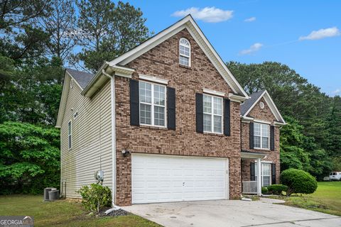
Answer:
[[[259, 107], [259, 102], [264, 102], [264, 109]], [[270, 121], [274, 124], [276, 120], [264, 98], [261, 98], [247, 116], [263, 121]], [[279, 128], [275, 127], [275, 150], [250, 149], [249, 147], [249, 123], [242, 122], [242, 150], [251, 152], [266, 153], [264, 161], [276, 163], [276, 183], [279, 182], [280, 160], [279, 160]], [[250, 162], [253, 160], [242, 160], [242, 180], [250, 180]]]

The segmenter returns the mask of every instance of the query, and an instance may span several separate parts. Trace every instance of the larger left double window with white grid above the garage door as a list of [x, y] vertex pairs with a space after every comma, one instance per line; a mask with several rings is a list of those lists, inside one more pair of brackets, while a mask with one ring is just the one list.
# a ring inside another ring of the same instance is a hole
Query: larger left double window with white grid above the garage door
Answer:
[[166, 87], [139, 82], [140, 123], [166, 127]]

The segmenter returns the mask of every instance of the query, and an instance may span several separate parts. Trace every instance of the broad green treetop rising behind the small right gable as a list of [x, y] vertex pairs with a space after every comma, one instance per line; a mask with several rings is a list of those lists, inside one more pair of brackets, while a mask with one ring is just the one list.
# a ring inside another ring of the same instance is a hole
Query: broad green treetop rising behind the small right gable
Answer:
[[278, 62], [250, 65], [228, 62], [227, 67], [249, 94], [266, 89], [281, 114], [297, 118], [303, 126], [309, 124], [305, 124], [304, 120], [325, 114], [328, 97], [287, 65]]

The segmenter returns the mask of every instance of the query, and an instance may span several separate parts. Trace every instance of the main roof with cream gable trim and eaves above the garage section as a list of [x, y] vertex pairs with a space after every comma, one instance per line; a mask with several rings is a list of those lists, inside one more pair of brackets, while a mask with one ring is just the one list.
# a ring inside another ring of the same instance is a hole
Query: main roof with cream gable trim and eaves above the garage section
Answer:
[[[215, 66], [224, 81], [232, 89], [233, 94], [230, 93], [229, 95], [237, 96], [240, 100], [249, 99], [249, 95], [247, 94], [247, 92], [244, 91], [232, 72], [229, 71], [220, 55], [218, 55], [218, 53], [212, 47], [211, 43], [205, 37], [204, 33], [202, 33], [202, 31], [200, 30], [199, 26], [197, 26], [197, 23], [195, 23], [193, 17], [190, 15], [185, 16], [180, 21], [174, 23], [172, 26], [154, 35], [153, 37], [146, 40], [144, 43], [141, 43], [128, 52], [125, 52], [123, 55], [120, 55], [114, 60], [110, 62], [104, 62], [104, 64], [102, 65], [102, 67], [99, 68], [96, 74], [80, 72], [71, 69], [67, 69], [66, 72], [67, 74], [70, 74], [70, 77], [75, 79], [75, 82], [77, 82], [77, 84], [79, 84], [82, 89], [81, 94], [87, 97], [91, 97], [93, 94], [95, 94], [97, 89], [102, 86], [102, 84], [107, 82], [108, 76], [110, 77], [113, 75], [118, 75], [131, 78], [131, 74], [134, 72], [134, 69], [126, 67], [129, 62], [143, 55], [145, 52], [151, 50], [160, 43], [163, 43], [163, 41], [171, 38], [176, 33], [183, 31], [183, 29], [187, 29], [190, 35], [193, 36], [195, 42], [200, 46], [202, 51], [205, 52], [205, 55], [207, 55], [207, 57], [210, 59], [212, 65]], [[69, 87], [70, 79], [68, 77], [65, 77], [56, 127], [60, 127], [61, 122], [63, 121], [63, 114], [65, 111], [66, 97]]]

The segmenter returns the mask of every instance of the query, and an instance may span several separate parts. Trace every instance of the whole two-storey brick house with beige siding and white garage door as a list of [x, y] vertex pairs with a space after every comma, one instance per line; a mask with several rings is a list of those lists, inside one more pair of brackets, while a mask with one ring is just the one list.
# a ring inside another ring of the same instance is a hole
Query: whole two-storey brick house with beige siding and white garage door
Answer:
[[121, 206], [240, 198], [242, 180], [260, 194], [256, 180], [278, 182], [283, 124], [269, 94], [250, 98], [186, 16], [96, 74], [66, 70], [62, 191], [79, 197], [104, 170]]

